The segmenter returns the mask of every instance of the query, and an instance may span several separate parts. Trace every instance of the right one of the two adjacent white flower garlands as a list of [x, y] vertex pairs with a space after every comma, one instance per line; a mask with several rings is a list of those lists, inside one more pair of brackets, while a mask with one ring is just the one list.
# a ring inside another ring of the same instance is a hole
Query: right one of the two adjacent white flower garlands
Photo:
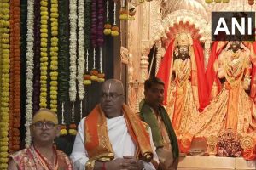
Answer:
[[84, 0], [79, 0], [79, 59], [78, 59], [78, 87], [79, 100], [84, 99]]

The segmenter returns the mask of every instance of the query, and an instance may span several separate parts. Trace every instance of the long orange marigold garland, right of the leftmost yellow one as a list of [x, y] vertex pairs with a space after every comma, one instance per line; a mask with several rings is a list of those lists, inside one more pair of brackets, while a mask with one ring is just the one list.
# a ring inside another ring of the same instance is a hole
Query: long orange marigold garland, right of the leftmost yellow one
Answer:
[[20, 150], [20, 0], [10, 1], [9, 153]]

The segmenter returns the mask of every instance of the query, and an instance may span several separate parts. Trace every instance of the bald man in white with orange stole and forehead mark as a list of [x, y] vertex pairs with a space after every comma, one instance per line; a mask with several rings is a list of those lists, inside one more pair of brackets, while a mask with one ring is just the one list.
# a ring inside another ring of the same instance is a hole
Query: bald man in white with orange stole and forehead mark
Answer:
[[155, 169], [150, 128], [124, 101], [122, 82], [103, 82], [100, 104], [79, 123], [71, 154], [75, 169]]

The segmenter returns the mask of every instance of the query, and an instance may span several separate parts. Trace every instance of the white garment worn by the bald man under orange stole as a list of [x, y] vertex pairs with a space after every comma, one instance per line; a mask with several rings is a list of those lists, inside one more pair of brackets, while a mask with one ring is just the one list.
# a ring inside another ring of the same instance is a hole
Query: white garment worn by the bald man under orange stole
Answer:
[[[85, 164], [89, 160], [87, 151], [84, 148], [84, 119], [85, 118], [83, 118], [79, 123], [78, 133], [70, 156], [73, 161], [74, 169], [76, 170], [84, 170]], [[128, 133], [124, 116], [114, 117], [111, 119], [107, 118], [107, 126], [108, 137], [114, 152], [114, 159], [118, 157], [123, 158], [123, 156], [134, 156], [136, 146]], [[152, 150], [154, 150], [154, 160], [158, 161], [150, 129], [149, 132], [151, 147]], [[147, 170], [155, 169], [151, 163], [143, 161], [143, 164]]]

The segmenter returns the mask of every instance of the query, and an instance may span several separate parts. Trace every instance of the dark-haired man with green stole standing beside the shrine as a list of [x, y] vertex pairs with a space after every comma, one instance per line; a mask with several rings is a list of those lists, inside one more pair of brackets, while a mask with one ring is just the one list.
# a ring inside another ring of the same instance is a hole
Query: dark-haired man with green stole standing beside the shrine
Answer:
[[177, 137], [172, 123], [162, 106], [165, 83], [158, 77], [150, 77], [144, 83], [145, 99], [140, 102], [140, 117], [152, 129], [156, 153], [159, 156], [159, 170], [174, 170], [178, 164]]

